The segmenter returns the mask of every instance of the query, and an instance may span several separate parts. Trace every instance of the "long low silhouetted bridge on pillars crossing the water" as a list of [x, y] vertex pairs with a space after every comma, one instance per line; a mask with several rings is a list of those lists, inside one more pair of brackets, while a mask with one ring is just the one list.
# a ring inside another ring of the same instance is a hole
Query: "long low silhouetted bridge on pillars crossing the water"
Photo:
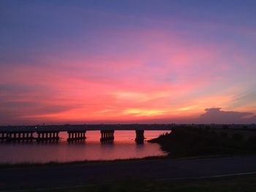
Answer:
[[43, 126], [0, 126], [0, 141], [58, 141], [59, 132], [67, 132], [67, 142], [85, 140], [86, 131], [100, 131], [100, 141], [113, 141], [115, 131], [133, 130], [136, 142], [143, 142], [144, 131], [170, 131], [173, 128], [256, 128], [255, 124], [83, 124]]

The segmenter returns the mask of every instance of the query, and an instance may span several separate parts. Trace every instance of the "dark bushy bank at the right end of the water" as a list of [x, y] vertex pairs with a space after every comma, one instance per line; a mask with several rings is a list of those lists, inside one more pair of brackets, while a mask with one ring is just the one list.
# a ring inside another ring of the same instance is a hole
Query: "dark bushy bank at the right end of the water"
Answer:
[[256, 153], [256, 131], [176, 128], [170, 134], [157, 139], [162, 150], [170, 157], [189, 157], [202, 155], [249, 155]]

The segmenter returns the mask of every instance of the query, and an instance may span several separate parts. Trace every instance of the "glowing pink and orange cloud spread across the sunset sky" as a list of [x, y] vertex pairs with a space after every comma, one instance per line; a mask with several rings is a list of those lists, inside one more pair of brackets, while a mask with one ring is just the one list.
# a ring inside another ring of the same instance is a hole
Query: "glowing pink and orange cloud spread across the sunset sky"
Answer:
[[[239, 67], [233, 66], [237, 57], [223, 57], [226, 46], [188, 45], [166, 31], [116, 34], [116, 41], [102, 42], [112, 50], [98, 56], [72, 58], [67, 53], [63, 58], [39, 58], [45, 65], [0, 66], [1, 88], [15, 86], [15, 92], [1, 92], [1, 104], [6, 104], [1, 112], [15, 111], [16, 122], [184, 117], [206, 107], [228, 106], [230, 97], [243, 91], [243, 86], [227, 91], [237, 77], [229, 72]], [[23, 106], [26, 102], [35, 105]], [[8, 104], [21, 105], [14, 110]]]

